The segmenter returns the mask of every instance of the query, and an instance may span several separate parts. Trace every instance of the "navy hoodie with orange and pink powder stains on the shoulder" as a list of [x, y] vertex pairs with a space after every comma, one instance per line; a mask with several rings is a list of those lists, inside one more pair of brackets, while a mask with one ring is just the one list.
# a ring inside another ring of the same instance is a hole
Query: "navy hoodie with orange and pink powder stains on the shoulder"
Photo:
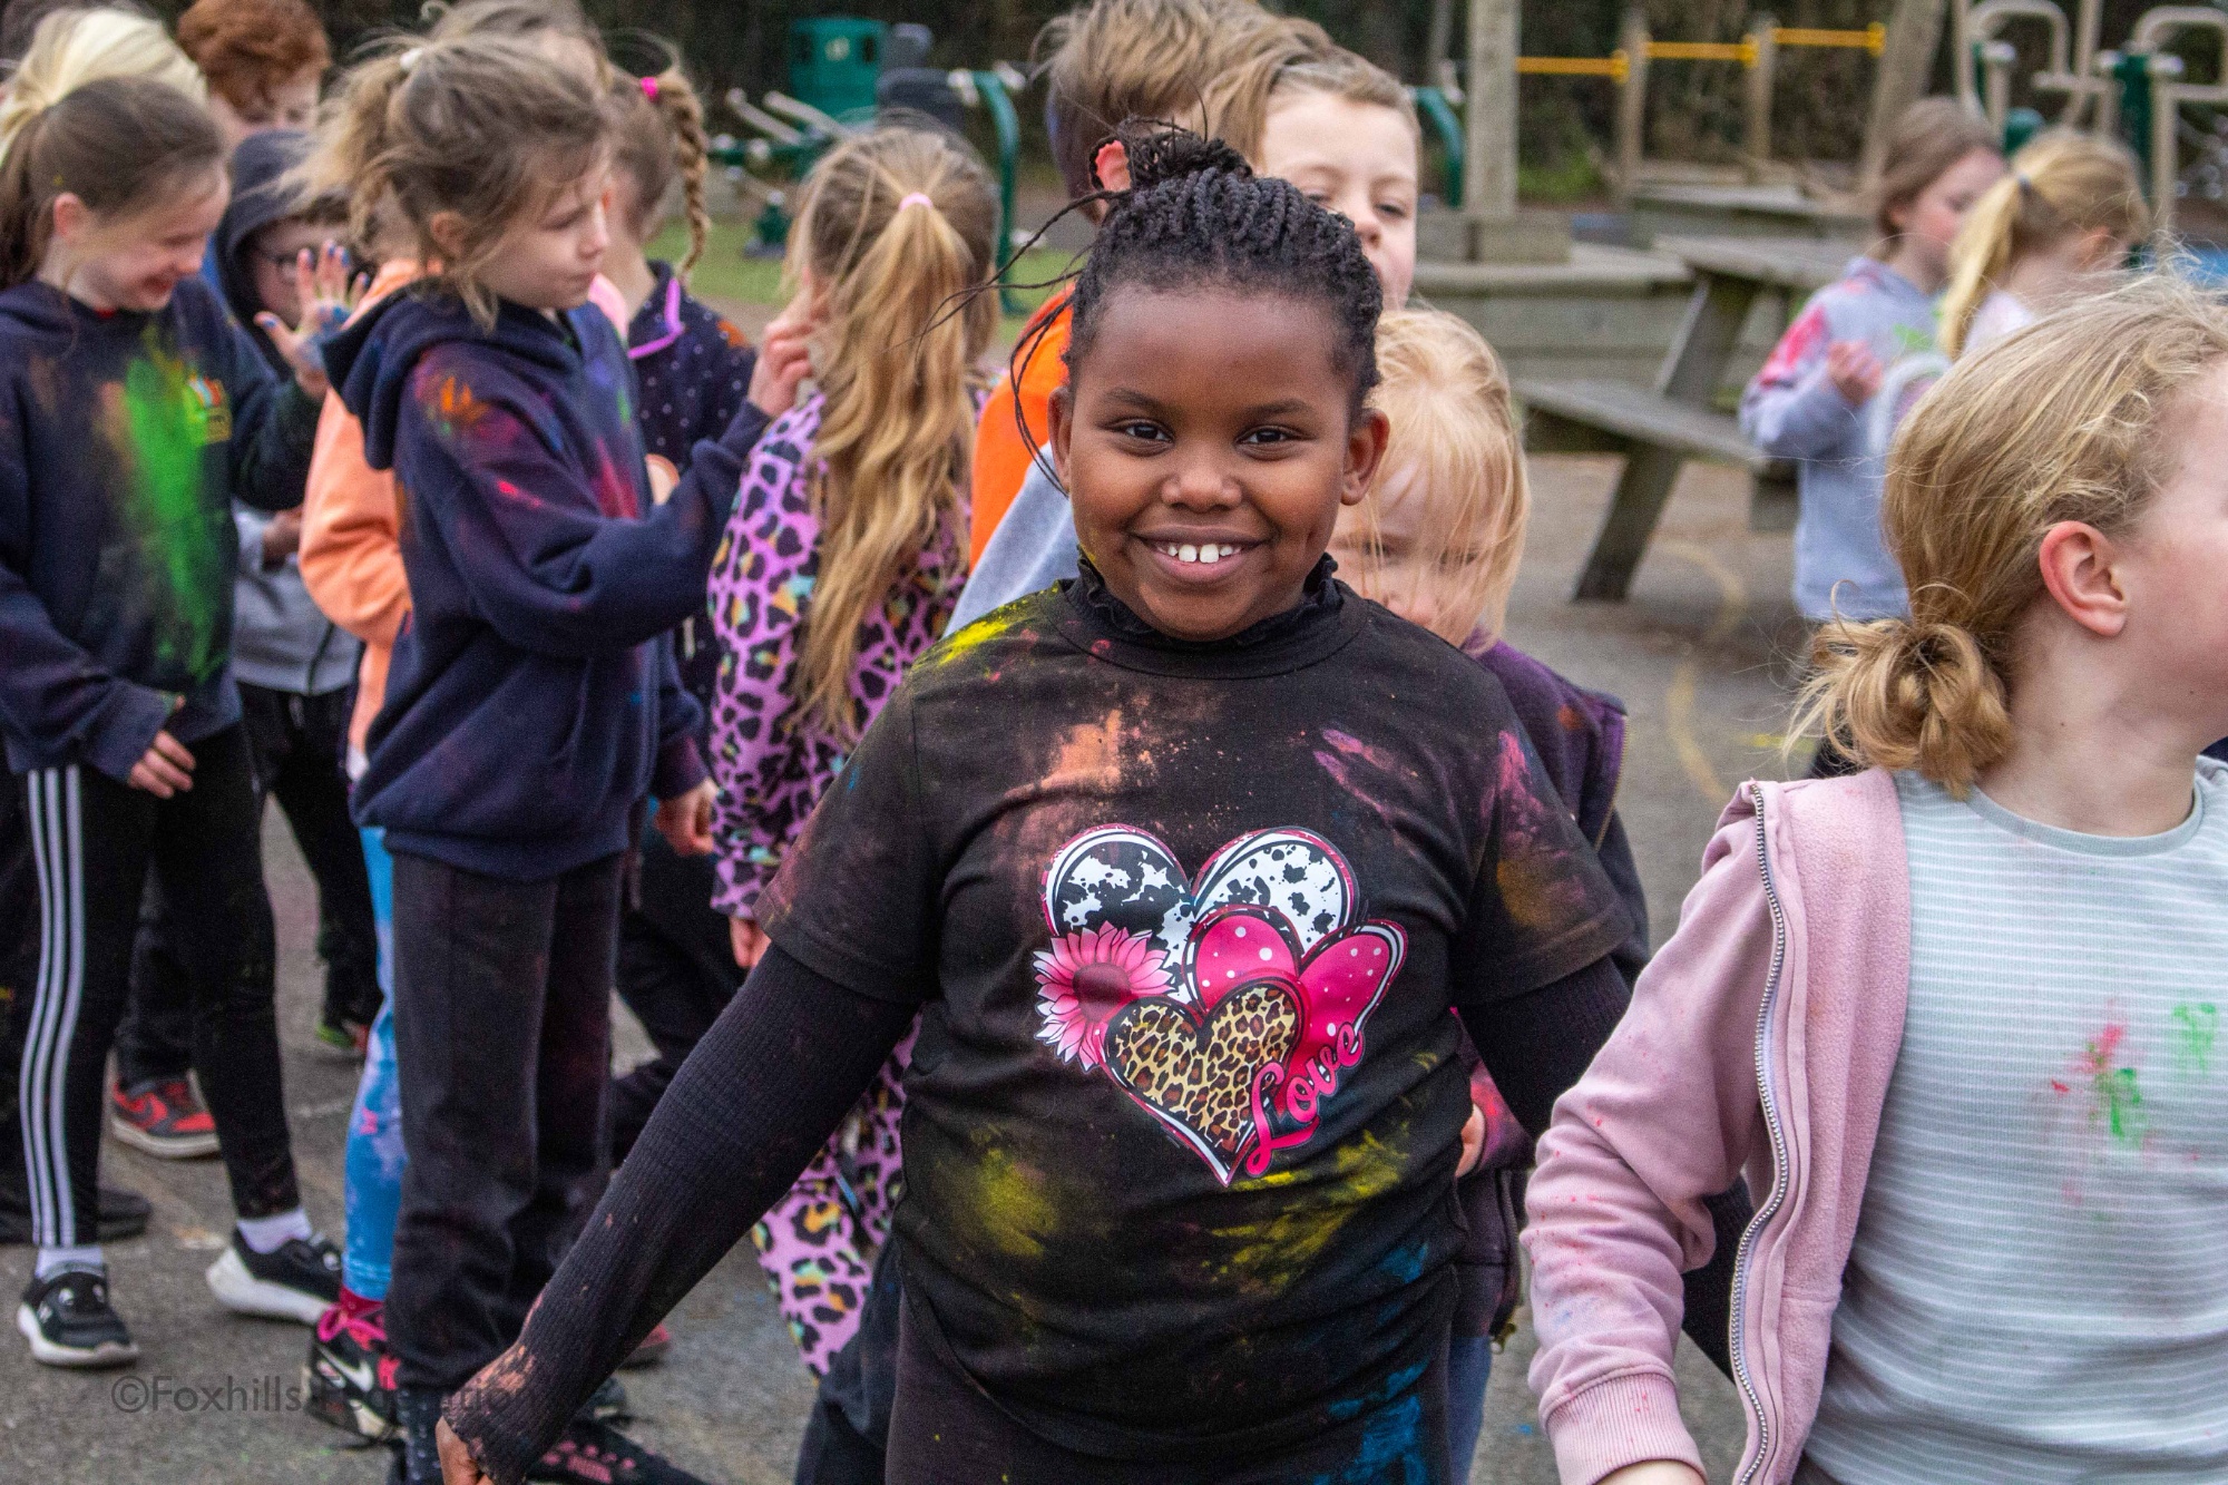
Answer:
[[644, 513], [635, 381], [595, 308], [479, 330], [403, 290], [325, 346], [372, 468], [394, 470], [410, 620], [356, 818], [388, 850], [539, 881], [631, 843], [704, 778], [664, 631], [704, 606], [764, 415], [744, 404]]

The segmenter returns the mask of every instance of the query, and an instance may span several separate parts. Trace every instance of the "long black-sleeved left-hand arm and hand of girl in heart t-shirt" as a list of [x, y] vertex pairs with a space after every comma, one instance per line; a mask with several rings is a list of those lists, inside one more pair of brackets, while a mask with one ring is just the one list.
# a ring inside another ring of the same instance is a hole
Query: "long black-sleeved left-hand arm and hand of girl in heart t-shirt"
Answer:
[[778, 945], [766, 952], [657, 1101], [517, 1345], [450, 1398], [448, 1423], [481, 1472], [510, 1485], [541, 1458], [789, 1191], [918, 1010], [847, 990]]

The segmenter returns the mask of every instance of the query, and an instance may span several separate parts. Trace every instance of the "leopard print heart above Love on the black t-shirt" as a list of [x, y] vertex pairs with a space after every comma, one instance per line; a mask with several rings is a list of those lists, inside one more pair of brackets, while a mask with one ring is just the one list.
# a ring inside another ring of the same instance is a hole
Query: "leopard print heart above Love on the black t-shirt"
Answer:
[[1299, 1006], [1274, 983], [1232, 990], [1199, 1017], [1167, 997], [1123, 1006], [1105, 1035], [1105, 1066], [1130, 1095], [1230, 1184], [1254, 1128], [1252, 1084], [1299, 1041]]

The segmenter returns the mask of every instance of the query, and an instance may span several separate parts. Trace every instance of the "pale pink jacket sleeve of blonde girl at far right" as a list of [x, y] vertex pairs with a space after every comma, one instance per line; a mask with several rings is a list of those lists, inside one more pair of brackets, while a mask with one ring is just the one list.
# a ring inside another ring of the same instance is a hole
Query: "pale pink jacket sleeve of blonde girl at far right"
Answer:
[[1742, 818], [1711, 841], [1680, 932], [1540, 1142], [1524, 1231], [1531, 1385], [1564, 1481], [1649, 1460], [1702, 1467], [1671, 1353], [1682, 1273], [1716, 1246], [1707, 1202], [1765, 1139], [1753, 1039], [1773, 934], [1756, 829]]

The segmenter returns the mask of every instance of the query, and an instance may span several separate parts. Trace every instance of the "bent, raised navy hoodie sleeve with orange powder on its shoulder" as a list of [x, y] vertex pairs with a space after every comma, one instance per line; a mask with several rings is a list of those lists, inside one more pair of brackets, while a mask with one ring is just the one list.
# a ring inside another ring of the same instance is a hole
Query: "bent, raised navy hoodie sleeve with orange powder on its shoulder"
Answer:
[[[488, 361], [430, 352], [412, 372], [394, 470], [430, 520], [479, 615], [517, 649], [599, 656], [644, 644], [704, 602], [713, 546], [762, 415], [695, 446], [644, 520], [610, 520], [544, 433], [539, 395]], [[426, 397], [448, 406], [426, 406]]]

